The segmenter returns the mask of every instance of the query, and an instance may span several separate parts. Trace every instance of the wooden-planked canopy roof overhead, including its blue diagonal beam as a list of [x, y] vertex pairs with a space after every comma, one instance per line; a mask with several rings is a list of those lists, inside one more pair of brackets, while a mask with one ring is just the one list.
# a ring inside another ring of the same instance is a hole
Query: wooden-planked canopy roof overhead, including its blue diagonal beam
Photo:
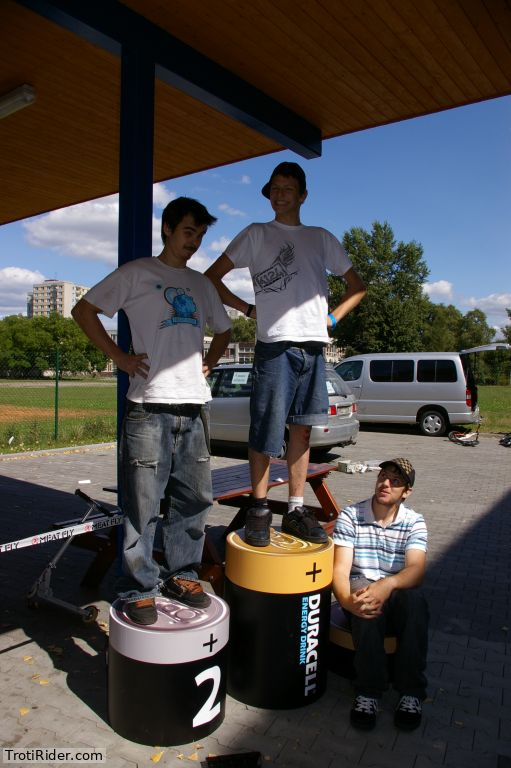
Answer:
[[119, 189], [122, 46], [154, 181], [511, 93], [506, 0], [2, 0], [0, 96], [37, 99], [0, 120], [0, 223]]

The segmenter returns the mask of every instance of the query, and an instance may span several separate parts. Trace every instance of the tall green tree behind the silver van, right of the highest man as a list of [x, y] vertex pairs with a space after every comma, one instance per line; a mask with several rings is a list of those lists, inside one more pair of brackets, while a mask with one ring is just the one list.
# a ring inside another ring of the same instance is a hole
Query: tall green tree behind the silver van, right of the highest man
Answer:
[[[396, 242], [390, 225], [377, 221], [371, 232], [350, 229], [343, 245], [366, 283], [367, 295], [335, 329], [337, 344], [347, 354], [422, 349], [430, 307], [422, 292], [429, 275], [422, 246]], [[331, 308], [339, 303], [344, 286], [342, 279], [329, 277]]]

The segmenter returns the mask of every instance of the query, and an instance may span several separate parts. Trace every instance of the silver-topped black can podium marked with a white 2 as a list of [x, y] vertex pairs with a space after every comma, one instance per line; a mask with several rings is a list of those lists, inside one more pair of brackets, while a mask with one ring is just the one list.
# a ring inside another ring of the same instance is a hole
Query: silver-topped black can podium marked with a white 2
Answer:
[[158, 621], [141, 626], [117, 600], [110, 608], [108, 715], [139, 744], [186, 744], [223, 722], [229, 609], [216, 595], [204, 609], [156, 598]]

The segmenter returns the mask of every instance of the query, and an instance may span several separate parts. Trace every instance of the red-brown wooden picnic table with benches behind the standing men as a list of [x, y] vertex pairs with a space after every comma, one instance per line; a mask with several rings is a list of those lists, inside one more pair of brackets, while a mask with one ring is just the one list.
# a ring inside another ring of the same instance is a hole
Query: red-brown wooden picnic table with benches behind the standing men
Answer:
[[[317, 519], [322, 523], [327, 533], [331, 534], [339, 513], [339, 506], [326, 484], [326, 478], [332, 471], [330, 464], [309, 464], [307, 483], [310, 485], [319, 502], [319, 506], [310, 507]], [[237, 507], [238, 511], [228, 526], [206, 526], [206, 536], [199, 576], [209, 581], [216, 592], [221, 593], [223, 582], [223, 541], [230, 531], [242, 528], [245, 524], [246, 510], [250, 504], [252, 486], [250, 482], [250, 467], [248, 462], [235, 464], [212, 470], [213, 500], [217, 504]], [[269, 489], [289, 482], [287, 463], [272, 459], [270, 464]], [[117, 492], [117, 488], [108, 488]], [[287, 511], [287, 502], [269, 498], [272, 513], [283, 514]], [[91, 516], [89, 520], [93, 520]], [[54, 524], [63, 528], [76, 523], [77, 520], [60, 521]], [[87, 587], [97, 587], [105, 577], [120, 548], [120, 529], [109, 528], [105, 531], [94, 531], [77, 536], [73, 545], [96, 552], [96, 557], [89, 565], [82, 584]], [[161, 548], [156, 545], [154, 558], [162, 560]]]

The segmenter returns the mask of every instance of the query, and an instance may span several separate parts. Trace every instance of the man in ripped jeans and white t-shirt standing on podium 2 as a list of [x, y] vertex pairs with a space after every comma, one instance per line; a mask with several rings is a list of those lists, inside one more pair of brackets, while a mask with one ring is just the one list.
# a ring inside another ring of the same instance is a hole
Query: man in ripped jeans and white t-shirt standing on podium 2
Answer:
[[[119, 596], [138, 624], [157, 621], [160, 594], [196, 608], [210, 603], [195, 569], [212, 504], [206, 376], [229, 343], [230, 321], [214, 286], [187, 262], [215, 221], [197, 200], [173, 200], [162, 215], [160, 255], [119, 267], [72, 313], [130, 376], [120, 444], [125, 523]], [[130, 352], [115, 344], [98, 317], [113, 317], [120, 309], [130, 324]], [[214, 336], [203, 360], [206, 324]], [[153, 545], [161, 499], [159, 566]]]

